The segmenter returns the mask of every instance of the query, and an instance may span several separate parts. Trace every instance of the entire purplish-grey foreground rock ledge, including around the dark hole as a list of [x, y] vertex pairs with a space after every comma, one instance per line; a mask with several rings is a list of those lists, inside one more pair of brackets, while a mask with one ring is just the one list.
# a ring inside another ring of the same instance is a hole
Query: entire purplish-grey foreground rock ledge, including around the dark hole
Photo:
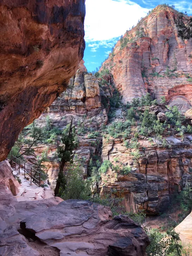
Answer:
[[[34, 246], [37, 238], [43, 243]], [[148, 244], [140, 226], [126, 216], [112, 219], [108, 207], [57, 197], [17, 201], [0, 183], [0, 255], [144, 256]]]

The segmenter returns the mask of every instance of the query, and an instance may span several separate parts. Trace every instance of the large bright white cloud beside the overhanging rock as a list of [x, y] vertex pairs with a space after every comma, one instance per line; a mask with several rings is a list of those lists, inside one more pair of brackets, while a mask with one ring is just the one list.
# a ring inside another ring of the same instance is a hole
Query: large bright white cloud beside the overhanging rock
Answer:
[[[85, 41], [104, 41], [120, 37], [145, 17], [148, 10], [129, 0], [86, 0]], [[89, 44], [88, 46], [90, 46]], [[112, 45], [113, 46], [113, 45]], [[103, 45], [103, 47], [112, 47]], [[92, 47], [96, 47], [92, 44]], [[94, 48], [93, 50], [96, 50]]]

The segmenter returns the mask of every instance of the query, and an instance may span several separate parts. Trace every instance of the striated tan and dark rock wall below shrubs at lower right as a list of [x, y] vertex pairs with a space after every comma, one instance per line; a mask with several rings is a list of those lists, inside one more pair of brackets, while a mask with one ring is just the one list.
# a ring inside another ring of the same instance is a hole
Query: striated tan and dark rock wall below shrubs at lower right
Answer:
[[122, 175], [111, 171], [102, 174], [101, 192], [115, 189], [127, 211], [145, 210], [148, 214], [164, 212], [173, 192], [181, 191], [186, 182], [192, 183], [192, 136], [165, 137], [167, 147], [158, 139], [139, 140], [139, 158], [135, 159], [121, 140], [103, 140], [102, 159], [132, 167]]

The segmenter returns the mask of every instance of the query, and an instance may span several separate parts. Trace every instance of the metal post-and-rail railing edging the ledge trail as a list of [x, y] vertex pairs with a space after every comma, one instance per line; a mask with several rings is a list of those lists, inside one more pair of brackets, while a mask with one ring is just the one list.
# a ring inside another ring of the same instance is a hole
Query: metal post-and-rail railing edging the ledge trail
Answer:
[[[16, 156], [13, 155], [12, 151], [10, 152], [10, 154], [8, 156], [10, 157], [10, 163], [14, 164], [15, 170], [16, 170], [16, 166], [19, 167], [19, 174], [20, 174], [20, 169], [22, 169], [24, 171], [24, 177], [25, 177], [26, 174], [28, 174], [30, 176], [30, 179], [31, 179], [31, 184], [32, 184], [32, 181], [35, 180], [37, 183], [39, 183], [39, 187], [40, 187], [41, 173], [39, 171], [37, 171], [33, 167], [25, 164], [25, 162], [23, 162], [22, 160], [18, 159]], [[30, 170], [30, 171], [28, 171], [28, 170]], [[32, 170], [34, 171], [34, 177], [32, 176]], [[37, 174], [39, 174], [39, 177], [38, 177], [39, 180], [37, 180], [35, 178]]]

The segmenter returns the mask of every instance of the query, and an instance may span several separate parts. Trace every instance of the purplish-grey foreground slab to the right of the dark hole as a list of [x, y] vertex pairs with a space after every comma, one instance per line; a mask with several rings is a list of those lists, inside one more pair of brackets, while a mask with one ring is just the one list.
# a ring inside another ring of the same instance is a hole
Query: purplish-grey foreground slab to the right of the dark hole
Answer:
[[[67, 200], [21, 221], [60, 255], [145, 255], [148, 238], [140, 226], [125, 216], [111, 217], [111, 211], [83, 200]], [[75, 237], [75, 239], [74, 239]], [[138, 246], [139, 243], [139, 246]]]

